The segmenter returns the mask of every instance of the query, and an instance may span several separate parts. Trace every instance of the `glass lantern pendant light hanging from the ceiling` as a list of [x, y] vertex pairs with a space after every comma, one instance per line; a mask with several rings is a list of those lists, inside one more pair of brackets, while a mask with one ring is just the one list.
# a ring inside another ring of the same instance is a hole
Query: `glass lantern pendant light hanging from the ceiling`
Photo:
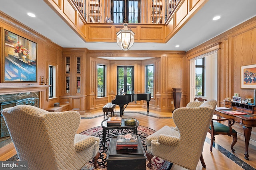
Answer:
[[[126, 1], [125, 1], [126, 4]], [[125, 5], [125, 17], [124, 17], [124, 28], [120, 29], [116, 33], [116, 42], [120, 49], [127, 51], [134, 43], [134, 32], [127, 27], [128, 21], [126, 20], [126, 5]]]

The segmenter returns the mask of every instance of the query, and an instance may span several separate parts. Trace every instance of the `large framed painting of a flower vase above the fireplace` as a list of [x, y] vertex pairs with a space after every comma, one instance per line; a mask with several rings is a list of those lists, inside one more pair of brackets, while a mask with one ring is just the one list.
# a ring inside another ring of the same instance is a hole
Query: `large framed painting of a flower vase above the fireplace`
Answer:
[[1, 28], [1, 82], [37, 82], [37, 43]]

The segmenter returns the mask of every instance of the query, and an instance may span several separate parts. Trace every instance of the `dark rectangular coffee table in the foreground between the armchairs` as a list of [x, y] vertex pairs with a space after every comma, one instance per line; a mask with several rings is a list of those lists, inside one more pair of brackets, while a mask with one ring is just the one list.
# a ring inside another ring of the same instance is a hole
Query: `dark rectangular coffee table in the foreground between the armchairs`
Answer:
[[147, 158], [140, 137], [137, 149], [116, 150], [116, 140], [117, 136], [110, 139], [108, 170], [145, 170]]

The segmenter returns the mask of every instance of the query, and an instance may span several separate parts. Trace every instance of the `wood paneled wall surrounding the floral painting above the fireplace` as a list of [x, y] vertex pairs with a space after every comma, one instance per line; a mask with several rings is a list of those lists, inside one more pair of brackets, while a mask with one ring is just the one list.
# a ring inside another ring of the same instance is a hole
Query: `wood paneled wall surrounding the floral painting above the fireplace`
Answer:
[[[38, 85], [40, 85], [40, 82], [42, 81], [42, 76], [46, 78], [48, 76], [48, 64], [54, 64], [57, 66], [57, 68], [61, 68], [61, 56], [62, 56], [62, 47], [56, 45], [55, 43], [52, 43], [50, 39], [40, 35], [39, 33], [35, 32], [34, 30], [26, 27], [26, 25], [23, 25], [22, 23], [14, 20], [10, 16], [7, 16], [6, 14], [0, 12], [0, 27], [1, 29], [6, 29], [8, 31], [11, 31], [17, 35], [20, 35], [26, 39], [29, 39], [30, 41], [33, 41], [37, 43], [37, 82], [4, 82], [0, 83], [0, 88], [6, 88], [10, 87], [13, 88], [15, 86], [20, 87], [20, 90], [26, 89], [26, 92], [29, 92], [29, 88], [27, 88], [27, 84], [33, 84], [35, 87], [31, 88], [31, 91], [35, 91], [38, 89], [38, 91], [41, 88], [36, 88]], [[3, 31], [1, 31], [0, 39], [1, 39], [1, 45], [0, 45], [0, 51], [1, 51], [1, 71], [0, 75], [4, 76], [4, 68], [2, 66], [3, 62], [3, 53], [2, 53], [2, 47], [4, 46], [4, 35], [2, 35]], [[58, 72], [58, 70], [57, 70]], [[61, 72], [60, 72], [61, 73]], [[45, 79], [46, 80], [46, 79]], [[61, 81], [61, 76], [58, 76], [56, 79], [56, 83], [59, 84]], [[24, 89], [22, 88], [24, 86]], [[45, 88], [46, 89], [46, 88]], [[48, 88], [47, 90], [44, 90], [45, 92], [41, 93], [40, 98], [42, 99], [40, 101], [42, 108], [47, 108], [49, 106], [53, 106], [55, 102], [59, 102], [58, 97], [48, 100]], [[17, 93], [17, 90], [10, 91], [6, 89], [7, 93]], [[61, 94], [61, 91], [59, 88], [57, 89], [57, 96]], [[0, 94], [5, 94], [3, 90], [1, 90]]]

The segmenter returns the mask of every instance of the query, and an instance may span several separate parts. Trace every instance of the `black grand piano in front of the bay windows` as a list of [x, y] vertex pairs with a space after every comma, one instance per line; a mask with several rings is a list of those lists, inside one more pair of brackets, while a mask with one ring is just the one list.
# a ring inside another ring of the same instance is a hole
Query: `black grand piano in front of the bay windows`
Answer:
[[[112, 104], [117, 104], [120, 107], [120, 117], [122, 117], [122, 115], [124, 114], [124, 109], [128, 106], [130, 102], [135, 101], [136, 103], [136, 101], [139, 100], [146, 100], [147, 107], [149, 107], [150, 99], [151, 93], [136, 92], [134, 94], [116, 95], [116, 97], [112, 100]], [[124, 107], [124, 105], [126, 106]]]

